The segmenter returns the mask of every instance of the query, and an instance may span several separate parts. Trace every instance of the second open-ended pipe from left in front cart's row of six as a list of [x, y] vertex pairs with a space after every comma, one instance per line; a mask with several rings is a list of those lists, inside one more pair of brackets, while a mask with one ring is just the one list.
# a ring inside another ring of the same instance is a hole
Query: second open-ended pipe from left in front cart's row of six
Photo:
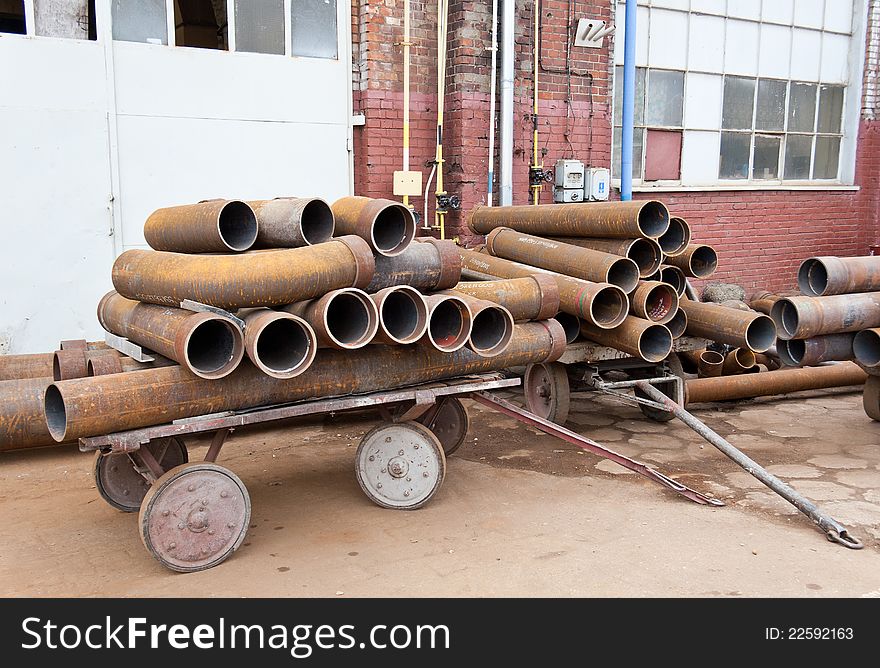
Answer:
[[315, 360], [318, 337], [302, 318], [283, 311], [252, 309], [244, 318], [244, 349], [248, 359], [272, 378], [294, 378]]

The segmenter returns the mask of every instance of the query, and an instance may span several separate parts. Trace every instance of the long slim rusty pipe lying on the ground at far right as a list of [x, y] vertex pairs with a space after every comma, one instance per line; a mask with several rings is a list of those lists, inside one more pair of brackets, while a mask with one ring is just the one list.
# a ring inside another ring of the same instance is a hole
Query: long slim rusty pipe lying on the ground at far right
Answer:
[[770, 397], [776, 394], [862, 385], [868, 377], [852, 362], [765, 373], [697, 378], [685, 382], [686, 404]]

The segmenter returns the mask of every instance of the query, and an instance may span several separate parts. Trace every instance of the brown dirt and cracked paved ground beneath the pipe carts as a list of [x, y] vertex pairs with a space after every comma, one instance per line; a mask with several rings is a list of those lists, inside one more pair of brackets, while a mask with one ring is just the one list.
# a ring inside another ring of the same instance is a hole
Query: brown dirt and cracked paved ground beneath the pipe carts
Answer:
[[[508, 393], [508, 397], [515, 394]], [[847, 550], [678, 422], [574, 395], [569, 426], [722, 499], [698, 506], [575, 446], [468, 404], [471, 432], [425, 508], [371, 504], [351, 417], [237, 432], [220, 463], [252, 526], [210, 571], [166, 571], [137, 517], [98, 496], [75, 449], [0, 456], [6, 596], [880, 597], [880, 423], [830, 392], [695, 413], [865, 542]], [[190, 459], [206, 443], [190, 444]]]

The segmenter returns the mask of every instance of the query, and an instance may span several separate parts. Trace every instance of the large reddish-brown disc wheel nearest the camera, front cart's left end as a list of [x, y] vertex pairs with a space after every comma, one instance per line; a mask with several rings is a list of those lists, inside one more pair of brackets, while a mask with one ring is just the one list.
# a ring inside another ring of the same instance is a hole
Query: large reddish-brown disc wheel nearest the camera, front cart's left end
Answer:
[[247, 533], [251, 498], [232, 471], [209, 462], [177, 466], [159, 478], [138, 515], [141, 540], [180, 573], [225, 561]]

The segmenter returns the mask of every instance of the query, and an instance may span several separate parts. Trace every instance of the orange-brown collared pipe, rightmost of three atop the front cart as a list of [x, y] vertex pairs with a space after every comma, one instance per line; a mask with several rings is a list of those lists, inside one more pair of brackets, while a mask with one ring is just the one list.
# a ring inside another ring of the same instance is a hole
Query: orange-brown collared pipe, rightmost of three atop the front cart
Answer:
[[370, 197], [342, 197], [333, 202], [338, 234], [355, 234], [379, 255], [399, 255], [416, 236], [416, 219], [400, 202]]

